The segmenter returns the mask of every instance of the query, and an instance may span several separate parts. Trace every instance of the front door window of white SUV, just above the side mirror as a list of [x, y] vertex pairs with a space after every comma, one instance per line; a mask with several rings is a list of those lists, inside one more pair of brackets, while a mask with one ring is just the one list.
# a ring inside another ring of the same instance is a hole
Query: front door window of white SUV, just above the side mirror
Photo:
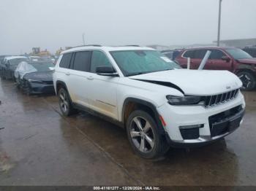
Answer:
[[97, 66], [112, 66], [108, 57], [100, 51], [93, 51], [91, 55], [91, 72], [96, 73]]

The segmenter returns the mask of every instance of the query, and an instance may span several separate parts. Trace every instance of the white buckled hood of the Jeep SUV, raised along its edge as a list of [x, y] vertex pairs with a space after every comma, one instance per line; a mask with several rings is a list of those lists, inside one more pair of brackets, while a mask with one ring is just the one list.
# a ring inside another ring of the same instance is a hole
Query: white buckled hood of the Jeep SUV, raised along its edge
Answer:
[[215, 95], [242, 85], [241, 80], [230, 71], [174, 69], [129, 78], [172, 87], [185, 95]]

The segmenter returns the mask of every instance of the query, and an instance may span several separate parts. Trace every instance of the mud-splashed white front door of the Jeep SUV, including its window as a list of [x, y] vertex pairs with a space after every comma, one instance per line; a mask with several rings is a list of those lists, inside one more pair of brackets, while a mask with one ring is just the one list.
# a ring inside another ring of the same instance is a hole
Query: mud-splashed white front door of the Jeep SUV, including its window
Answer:
[[113, 66], [105, 52], [94, 50], [91, 54], [91, 67], [86, 95], [91, 109], [118, 120], [116, 89], [119, 77], [96, 74], [97, 66]]

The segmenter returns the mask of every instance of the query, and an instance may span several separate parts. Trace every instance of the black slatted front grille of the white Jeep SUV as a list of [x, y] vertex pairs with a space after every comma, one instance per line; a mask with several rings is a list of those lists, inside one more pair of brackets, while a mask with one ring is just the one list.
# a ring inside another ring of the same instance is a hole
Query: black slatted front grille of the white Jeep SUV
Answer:
[[232, 90], [227, 93], [222, 93], [219, 95], [209, 95], [205, 97], [205, 106], [210, 107], [210, 106], [215, 106], [217, 104], [222, 104], [227, 101], [230, 101], [238, 95], [238, 89], [237, 90]]

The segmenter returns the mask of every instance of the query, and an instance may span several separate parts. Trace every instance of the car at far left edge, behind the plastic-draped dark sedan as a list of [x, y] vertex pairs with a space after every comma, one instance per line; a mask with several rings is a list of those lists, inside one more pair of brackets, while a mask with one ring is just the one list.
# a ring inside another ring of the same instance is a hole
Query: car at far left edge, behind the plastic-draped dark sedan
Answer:
[[24, 56], [7, 56], [4, 58], [4, 61], [1, 63], [1, 79], [13, 79], [14, 71], [17, 68], [18, 64], [22, 61], [28, 61], [28, 58]]

